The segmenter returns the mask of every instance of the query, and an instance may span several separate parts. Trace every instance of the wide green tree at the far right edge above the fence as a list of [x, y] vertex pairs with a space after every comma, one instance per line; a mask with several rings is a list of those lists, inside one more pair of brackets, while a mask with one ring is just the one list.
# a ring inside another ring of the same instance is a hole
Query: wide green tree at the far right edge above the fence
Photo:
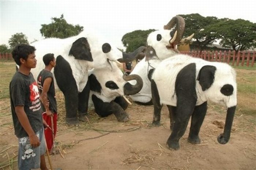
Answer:
[[248, 20], [221, 20], [209, 27], [208, 31], [220, 37], [220, 45], [232, 47], [236, 52], [256, 46], [256, 23]]

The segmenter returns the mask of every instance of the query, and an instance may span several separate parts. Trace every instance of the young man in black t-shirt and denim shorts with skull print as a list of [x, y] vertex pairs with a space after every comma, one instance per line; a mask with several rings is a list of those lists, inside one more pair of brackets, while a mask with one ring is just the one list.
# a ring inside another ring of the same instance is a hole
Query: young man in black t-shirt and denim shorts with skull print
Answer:
[[45, 163], [45, 139], [37, 82], [30, 72], [35, 68], [35, 48], [19, 44], [12, 51], [19, 65], [10, 83], [10, 100], [15, 135], [18, 137], [19, 170], [48, 170]]

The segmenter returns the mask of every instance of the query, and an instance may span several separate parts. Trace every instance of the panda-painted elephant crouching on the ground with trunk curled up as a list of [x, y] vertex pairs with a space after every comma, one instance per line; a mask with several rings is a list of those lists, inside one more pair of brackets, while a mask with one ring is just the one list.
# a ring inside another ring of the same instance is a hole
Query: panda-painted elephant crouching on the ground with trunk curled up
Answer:
[[[118, 121], [126, 122], [130, 117], [125, 112], [129, 102], [125, 95], [138, 93], [143, 86], [143, 81], [138, 75], [124, 75], [116, 63], [112, 66], [112, 70], [93, 69], [89, 76], [90, 95], [95, 112], [99, 116], [107, 117], [114, 114]], [[134, 80], [136, 84], [132, 85], [127, 82], [128, 80]]]

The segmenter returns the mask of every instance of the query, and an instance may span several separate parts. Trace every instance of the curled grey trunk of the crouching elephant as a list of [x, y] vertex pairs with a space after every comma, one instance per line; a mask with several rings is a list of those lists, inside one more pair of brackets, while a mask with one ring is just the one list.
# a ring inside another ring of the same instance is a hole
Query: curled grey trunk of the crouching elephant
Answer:
[[140, 78], [140, 76], [138, 75], [129, 75], [129, 76], [123, 76], [123, 79], [125, 81], [129, 81], [129, 80], [136, 80], [136, 84], [132, 85], [131, 83], [127, 82], [124, 85], [124, 94], [125, 95], [133, 95], [138, 93], [142, 87], [143, 87], [143, 81], [142, 78]]

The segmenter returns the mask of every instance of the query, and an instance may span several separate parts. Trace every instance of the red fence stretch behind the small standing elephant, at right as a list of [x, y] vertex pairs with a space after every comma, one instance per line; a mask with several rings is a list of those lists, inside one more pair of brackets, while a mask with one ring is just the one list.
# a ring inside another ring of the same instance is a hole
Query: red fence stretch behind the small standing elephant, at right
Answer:
[[[255, 61], [255, 53], [256, 51], [236, 51], [233, 50], [232, 52], [229, 50], [228, 52], [224, 51], [183, 51], [182, 54], [187, 54], [192, 57], [202, 58], [207, 61], [218, 61], [223, 62], [231, 65], [244, 66], [246, 60], [246, 66], [253, 67]], [[241, 61], [241, 62], [240, 62]]]

